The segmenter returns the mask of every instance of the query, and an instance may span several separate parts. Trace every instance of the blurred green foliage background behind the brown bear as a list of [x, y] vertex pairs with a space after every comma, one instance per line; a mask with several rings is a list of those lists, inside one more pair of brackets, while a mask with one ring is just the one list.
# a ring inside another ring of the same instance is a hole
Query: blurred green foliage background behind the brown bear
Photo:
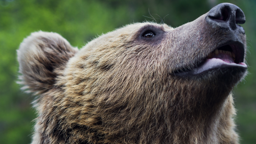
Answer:
[[[16, 84], [16, 50], [31, 32], [53, 31], [81, 48], [92, 38], [133, 22], [161, 22], [178, 27], [213, 6], [239, 6], [246, 16], [249, 74], [234, 89], [237, 132], [242, 144], [256, 143], [256, 1], [255, 0], [0, 0], [0, 143], [28, 144], [36, 118], [33, 97]], [[150, 12], [150, 14], [149, 14]], [[156, 15], [157, 14], [157, 15]]]

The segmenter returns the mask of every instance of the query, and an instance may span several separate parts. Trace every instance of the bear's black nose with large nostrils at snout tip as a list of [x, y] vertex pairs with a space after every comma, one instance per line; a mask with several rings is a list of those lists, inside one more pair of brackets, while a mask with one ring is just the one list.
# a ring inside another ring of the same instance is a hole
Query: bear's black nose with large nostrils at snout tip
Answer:
[[223, 28], [230, 27], [232, 30], [239, 27], [237, 24], [245, 23], [244, 12], [238, 6], [230, 3], [216, 5], [209, 11], [207, 17], [209, 23]]

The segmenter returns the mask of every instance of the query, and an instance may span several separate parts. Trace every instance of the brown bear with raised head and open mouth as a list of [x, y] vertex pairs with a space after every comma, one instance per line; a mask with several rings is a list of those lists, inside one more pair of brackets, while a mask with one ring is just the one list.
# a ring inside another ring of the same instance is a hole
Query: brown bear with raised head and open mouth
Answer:
[[237, 144], [244, 22], [223, 3], [178, 28], [133, 23], [81, 50], [32, 33], [18, 50], [20, 83], [36, 95], [32, 144]]

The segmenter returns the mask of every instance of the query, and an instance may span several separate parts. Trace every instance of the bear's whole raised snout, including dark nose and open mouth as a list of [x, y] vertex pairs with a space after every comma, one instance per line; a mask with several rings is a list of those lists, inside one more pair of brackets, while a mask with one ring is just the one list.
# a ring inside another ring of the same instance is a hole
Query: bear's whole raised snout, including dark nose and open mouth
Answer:
[[175, 63], [172, 67], [175, 76], [192, 76], [209, 70], [232, 70], [235, 67], [239, 68], [238, 77], [244, 76], [247, 69], [244, 63], [246, 36], [244, 28], [238, 25], [244, 23], [244, 12], [238, 6], [222, 3], [170, 32], [175, 37], [171, 54], [180, 55], [170, 60], [170, 63]]

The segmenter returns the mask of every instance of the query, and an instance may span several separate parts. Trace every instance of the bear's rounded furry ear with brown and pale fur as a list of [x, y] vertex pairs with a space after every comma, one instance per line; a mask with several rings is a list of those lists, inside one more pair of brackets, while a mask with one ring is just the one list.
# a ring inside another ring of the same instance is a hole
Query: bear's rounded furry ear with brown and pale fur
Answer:
[[57, 33], [34, 32], [23, 40], [17, 50], [20, 64], [19, 84], [27, 92], [40, 94], [52, 89], [56, 77], [60, 75], [77, 48]]

